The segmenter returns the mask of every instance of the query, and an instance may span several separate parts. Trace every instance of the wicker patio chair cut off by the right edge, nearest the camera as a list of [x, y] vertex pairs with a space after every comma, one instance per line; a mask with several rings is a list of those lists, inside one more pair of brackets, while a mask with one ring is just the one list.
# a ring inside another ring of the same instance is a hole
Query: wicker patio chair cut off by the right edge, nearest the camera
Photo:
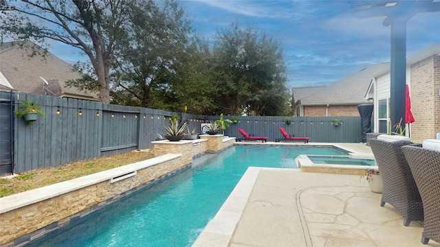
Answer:
[[420, 144], [402, 148], [415, 183], [419, 187], [425, 211], [421, 242], [440, 243], [440, 152], [421, 148]]

